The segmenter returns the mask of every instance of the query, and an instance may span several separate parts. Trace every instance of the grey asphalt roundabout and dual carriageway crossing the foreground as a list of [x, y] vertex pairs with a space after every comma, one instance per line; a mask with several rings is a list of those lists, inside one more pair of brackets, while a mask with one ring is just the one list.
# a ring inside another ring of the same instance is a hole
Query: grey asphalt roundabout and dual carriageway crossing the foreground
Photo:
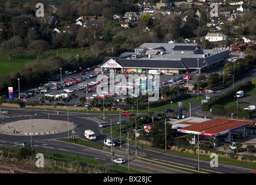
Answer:
[[[9, 110], [10, 112], [11, 110]], [[6, 122], [8, 121], [15, 121], [20, 119], [29, 119], [31, 115], [33, 115], [36, 110], [16, 110], [13, 109], [13, 117], [10, 117], [6, 119]], [[15, 116], [14, 116], [15, 115]], [[18, 116], [23, 115], [23, 116]], [[41, 117], [42, 119], [48, 117], [47, 112], [41, 112], [38, 117]], [[78, 127], [75, 129], [77, 138], [85, 139], [84, 138], [84, 129], [87, 128], [93, 128], [96, 132], [98, 139], [96, 141], [99, 144], [103, 145], [103, 138], [106, 137], [106, 135], [103, 135], [101, 133], [101, 130], [103, 128], [98, 128], [99, 122], [96, 122], [95, 120], [91, 120], [92, 115], [88, 115], [86, 113], [79, 113], [79, 114], [70, 114], [70, 121], [75, 121], [75, 123], [78, 123]], [[98, 115], [100, 119], [101, 115]], [[50, 114], [50, 119], [58, 119], [58, 120], [66, 120], [66, 112], [63, 112], [59, 115]], [[95, 116], [94, 116], [95, 117]], [[88, 119], [89, 118], [89, 119]], [[118, 118], [117, 118], [118, 119]], [[86, 120], [86, 121], [85, 121]], [[70, 132], [71, 135], [71, 132]], [[80, 145], [74, 145], [72, 143], [66, 143], [66, 142], [60, 142], [59, 140], [56, 140], [57, 138], [67, 138], [67, 132], [59, 133], [59, 134], [52, 134], [52, 135], [44, 135], [44, 136], [33, 136], [32, 142], [33, 147], [36, 150], [45, 150], [45, 151], [53, 151], [56, 153], [64, 153], [64, 154], [71, 154], [75, 156], [81, 156], [81, 157], [87, 157], [87, 158], [94, 158], [96, 160], [103, 161], [104, 164], [110, 165], [111, 164], [111, 153], [107, 151], [102, 150], [96, 150], [91, 149], [89, 147], [84, 147]], [[28, 143], [30, 143], [30, 136], [13, 136], [13, 135], [4, 135], [0, 134], [0, 144], [3, 146], [13, 146], [17, 141], [20, 140], [27, 140]], [[117, 146], [116, 149], [119, 149], [120, 147]], [[122, 148], [127, 149], [127, 144], [122, 145]], [[129, 145], [129, 148], [131, 150], [135, 150], [134, 146], [131, 144]], [[138, 152], [143, 152], [141, 147], [138, 147]], [[153, 157], [164, 161], [173, 162], [175, 164], [183, 164], [187, 166], [192, 166], [193, 168], [198, 167], [198, 161], [197, 158], [190, 158], [190, 157], [183, 157], [171, 153], [165, 153], [163, 151], [157, 151], [152, 149], [145, 149], [145, 154], [147, 157]], [[124, 158], [126, 161], [128, 161], [127, 157], [115, 154], [114, 158]], [[131, 156], [130, 156], [131, 157]], [[150, 173], [185, 173], [182, 171], [178, 171], [175, 169], [165, 168], [163, 166], [154, 166], [152, 164], [148, 164], [147, 162], [142, 162], [138, 160], [134, 160], [133, 157], [129, 158], [129, 164], [128, 162], [124, 164], [125, 166], [130, 168], [139, 169], [141, 171], [146, 171]], [[218, 168], [211, 168], [210, 161], [205, 161], [200, 159], [200, 169], [208, 169], [210, 171], [220, 172], [220, 173], [251, 173], [253, 169], [250, 168], [241, 168], [238, 166], [233, 166], [229, 164], [222, 164], [219, 163]]]

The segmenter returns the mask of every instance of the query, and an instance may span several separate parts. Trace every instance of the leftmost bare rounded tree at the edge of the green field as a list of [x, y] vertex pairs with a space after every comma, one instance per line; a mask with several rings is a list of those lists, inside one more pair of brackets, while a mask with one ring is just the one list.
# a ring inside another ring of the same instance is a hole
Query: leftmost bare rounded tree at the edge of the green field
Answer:
[[12, 54], [21, 50], [21, 38], [19, 36], [13, 36], [9, 40], [2, 42], [1, 49], [8, 54], [9, 60], [12, 59]]

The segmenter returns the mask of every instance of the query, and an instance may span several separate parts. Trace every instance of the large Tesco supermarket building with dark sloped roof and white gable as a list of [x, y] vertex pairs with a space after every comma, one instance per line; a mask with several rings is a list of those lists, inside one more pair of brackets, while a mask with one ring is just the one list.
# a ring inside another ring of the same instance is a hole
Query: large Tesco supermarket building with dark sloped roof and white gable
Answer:
[[208, 50], [197, 43], [143, 43], [132, 53], [120, 57], [105, 57], [101, 68], [121, 73], [147, 73], [157, 69], [162, 73], [207, 72], [224, 64], [229, 50]]

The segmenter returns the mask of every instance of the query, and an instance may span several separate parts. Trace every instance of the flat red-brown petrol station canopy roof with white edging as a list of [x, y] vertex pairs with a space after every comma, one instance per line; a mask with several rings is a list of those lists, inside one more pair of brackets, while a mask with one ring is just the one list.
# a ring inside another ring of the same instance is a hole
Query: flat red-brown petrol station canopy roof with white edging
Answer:
[[179, 132], [188, 134], [192, 133], [196, 135], [218, 136], [240, 128], [248, 127], [249, 125], [254, 125], [255, 122], [223, 118], [199, 119], [198, 117], [192, 117], [192, 119], [183, 121], [179, 120], [178, 122], [173, 122], [171, 124], [173, 127], [175, 126]]

